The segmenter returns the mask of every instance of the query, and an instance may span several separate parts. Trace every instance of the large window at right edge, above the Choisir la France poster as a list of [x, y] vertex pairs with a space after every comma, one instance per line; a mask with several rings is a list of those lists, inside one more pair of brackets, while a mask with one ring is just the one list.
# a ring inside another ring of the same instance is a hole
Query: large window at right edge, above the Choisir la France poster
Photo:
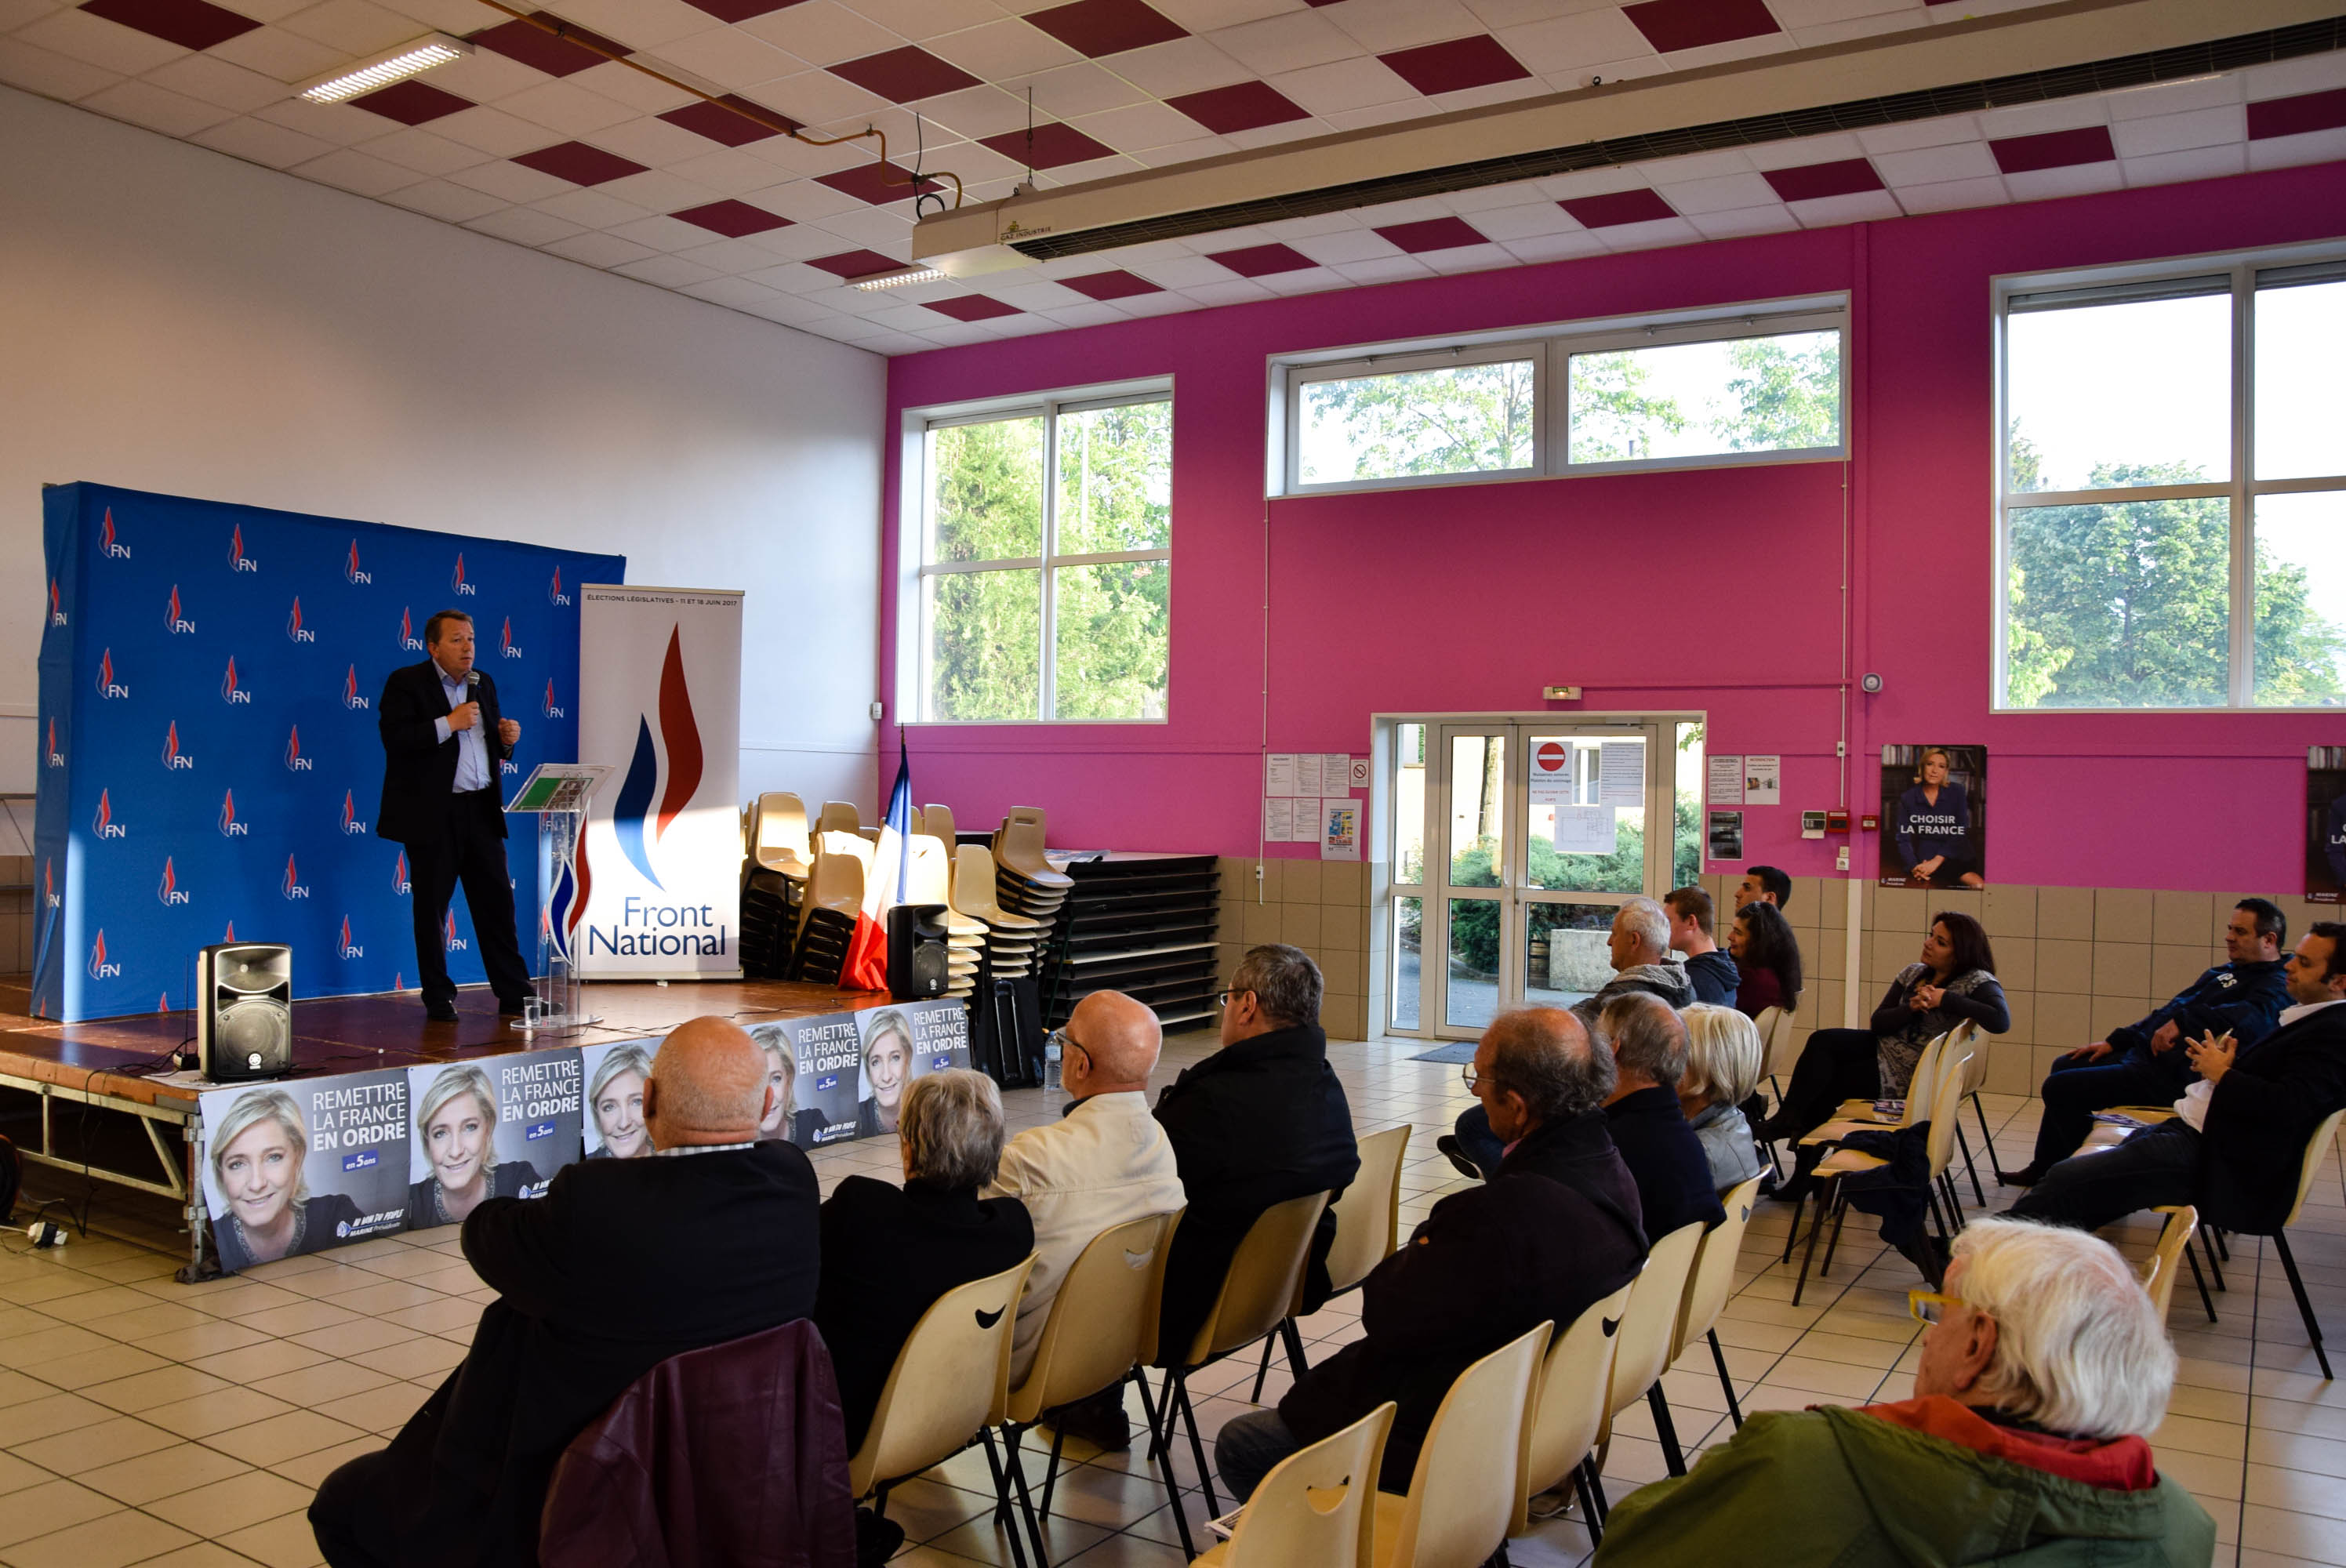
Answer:
[[2003, 298], [1999, 707], [2346, 702], [2346, 261]]

